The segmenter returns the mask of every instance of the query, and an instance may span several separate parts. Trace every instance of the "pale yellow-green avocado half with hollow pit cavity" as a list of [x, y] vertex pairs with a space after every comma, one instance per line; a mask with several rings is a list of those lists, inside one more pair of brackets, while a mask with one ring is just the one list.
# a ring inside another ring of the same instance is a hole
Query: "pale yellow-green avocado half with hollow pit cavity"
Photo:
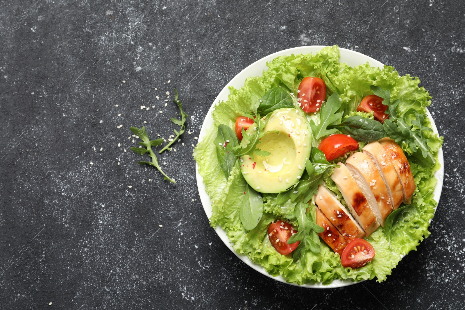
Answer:
[[[255, 191], [279, 193], [299, 182], [312, 149], [312, 132], [302, 114], [289, 108], [273, 111], [263, 130], [279, 131], [279, 134], [267, 133], [257, 145], [271, 154], [266, 157], [253, 154], [254, 159], [247, 155], [239, 158], [241, 172]], [[256, 130], [256, 124], [248, 130]]]

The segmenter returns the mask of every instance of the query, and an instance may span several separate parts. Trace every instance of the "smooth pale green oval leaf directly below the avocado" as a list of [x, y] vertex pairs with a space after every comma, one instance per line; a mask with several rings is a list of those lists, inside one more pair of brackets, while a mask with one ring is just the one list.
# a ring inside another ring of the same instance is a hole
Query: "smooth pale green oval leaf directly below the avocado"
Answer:
[[246, 184], [245, 198], [239, 209], [240, 221], [248, 231], [254, 229], [263, 215], [263, 200], [261, 195]]

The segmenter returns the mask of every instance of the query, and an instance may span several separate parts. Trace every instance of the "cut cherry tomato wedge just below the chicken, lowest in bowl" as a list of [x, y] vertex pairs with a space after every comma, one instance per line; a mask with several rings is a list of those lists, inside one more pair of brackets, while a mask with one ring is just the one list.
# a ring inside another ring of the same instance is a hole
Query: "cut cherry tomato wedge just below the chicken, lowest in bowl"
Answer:
[[341, 264], [344, 268], [359, 268], [370, 263], [375, 257], [375, 249], [364, 239], [353, 239], [341, 255]]

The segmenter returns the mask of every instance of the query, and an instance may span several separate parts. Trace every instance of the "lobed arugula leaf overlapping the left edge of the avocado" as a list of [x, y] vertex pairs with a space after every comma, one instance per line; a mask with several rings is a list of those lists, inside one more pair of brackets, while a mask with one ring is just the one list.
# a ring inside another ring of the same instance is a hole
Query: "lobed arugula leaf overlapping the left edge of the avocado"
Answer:
[[240, 145], [235, 146], [233, 149], [233, 152], [236, 154], [236, 156], [240, 157], [249, 155], [253, 159], [253, 154], [264, 157], [271, 154], [270, 152], [258, 149], [257, 145], [261, 143], [260, 139], [263, 138], [266, 134], [271, 132], [276, 132], [279, 134], [279, 131], [263, 132], [265, 123], [260, 119], [260, 114], [256, 115], [255, 124], [257, 124], [256, 127], [249, 127], [247, 131], [242, 128], [242, 142]]

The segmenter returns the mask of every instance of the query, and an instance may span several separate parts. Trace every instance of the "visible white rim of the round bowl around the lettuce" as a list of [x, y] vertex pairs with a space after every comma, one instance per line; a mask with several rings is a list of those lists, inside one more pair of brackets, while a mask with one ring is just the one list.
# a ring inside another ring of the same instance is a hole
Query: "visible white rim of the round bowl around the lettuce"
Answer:
[[[213, 101], [212, 106], [208, 110], [204, 123], [202, 125], [202, 128], [200, 130], [199, 134], [199, 142], [202, 141], [203, 137], [206, 134], [207, 129], [209, 129], [211, 126], [213, 126], [213, 119], [212, 119], [212, 111], [214, 109], [214, 106], [218, 104], [220, 101], [228, 98], [229, 95], [229, 86], [234, 86], [236, 89], [239, 89], [240, 87], [244, 86], [244, 82], [248, 77], [251, 76], [261, 76], [263, 71], [266, 70], [266, 62], [271, 61], [272, 59], [282, 56], [282, 55], [291, 55], [291, 54], [300, 54], [300, 53], [316, 53], [319, 50], [321, 50], [325, 46], [299, 46], [299, 47], [294, 47], [294, 48], [289, 48], [277, 53], [273, 53], [271, 55], [268, 55], [266, 57], [263, 57], [262, 59], [259, 59], [255, 61], [252, 65], [246, 67], [244, 70], [239, 72], [231, 81], [229, 81], [228, 84], [219, 92], [218, 96], [216, 99]], [[364, 54], [354, 52], [345, 48], [339, 48], [339, 53], [340, 53], [340, 62], [344, 62], [349, 66], [358, 66], [360, 64], [364, 64], [368, 61], [370, 66], [377, 66], [377, 67], [383, 67], [384, 65], [380, 63], [376, 59], [372, 59], [371, 57], [368, 57]], [[435, 133], [438, 133], [438, 129], [436, 128], [436, 125], [434, 124], [434, 120], [432, 119], [432, 116], [429, 111], [427, 111], [427, 114], [429, 118], [431, 119], [432, 122], [432, 129]], [[438, 151], [438, 160], [439, 163], [441, 164], [441, 169], [436, 171], [434, 173], [434, 176], [438, 179], [438, 183], [436, 183], [436, 186], [434, 188], [434, 199], [439, 202], [439, 198], [441, 196], [441, 190], [442, 190], [442, 183], [444, 179], [444, 158], [443, 158], [443, 153], [442, 153], [442, 148], [439, 149]], [[210, 198], [208, 197], [208, 194], [205, 191], [205, 185], [203, 183], [203, 178], [199, 174], [199, 165], [197, 163], [195, 164], [195, 173], [197, 176], [197, 187], [199, 189], [199, 196], [200, 200], [202, 201], [202, 205], [204, 207], [205, 213], [208, 218], [212, 215], [212, 202], [210, 201]], [[436, 208], [435, 210], [436, 211]], [[430, 220], [431, 222], [431, 220]], [[218, 236], [221, 238], [221, 240], [226, 244], [227, 247], [237, 256], [239, 257], [244, 263], [252, 267], [253, 269], [257, 270], [261, 274], [271, 277], [277, 281], [284, 282], [286, 283], [285, 278], [278, 276], [278, 277], [273, 277], [272, 275], [268, 274], [266, 272], [265, 268], [260, 266], [259, 264], [253, 263], [246, 255], [239, 255], [234, 251], [233, 247], [231, 246], [231, 243], [229, 242], [228, 237], [226, 236], [226, 231], [224, 231], [220, 226], [217, 226], [215, 228], [216, 233]], [[291, 285], [296, 285], [296, 286], [302, 286], [302, 287], [309, 287], [309, 288], [335, 288], [335, 287], [341, 287], [341, 286], [347, 286], [347, 285], [352, 285], [352, 284], [357, 284], [362, 281], [358, 282], [352, 282], [351, 280], [334, 280], [331, 284], [329, 285], [324, 285], [321, 283], [316, 283], [316, 284], [293, 284], [293, 283], [288, 283]]]

